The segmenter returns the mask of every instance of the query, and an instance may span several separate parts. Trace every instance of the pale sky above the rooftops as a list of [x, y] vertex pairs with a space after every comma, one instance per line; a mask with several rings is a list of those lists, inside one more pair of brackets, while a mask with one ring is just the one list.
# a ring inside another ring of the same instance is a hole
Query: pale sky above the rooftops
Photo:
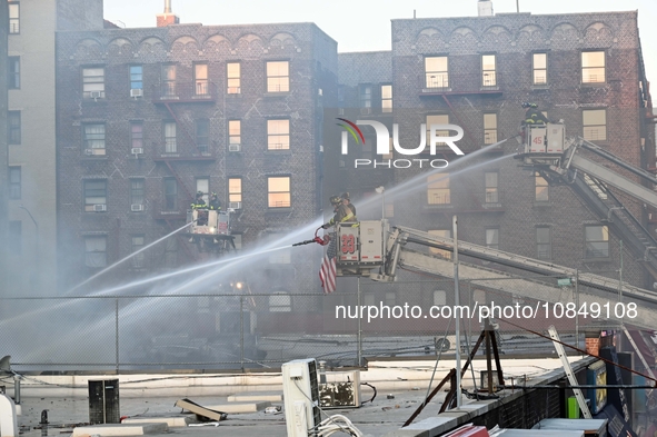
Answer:
[[[555, 14], [639, 11], [639, 29], [648, 79], [657, 83], [657, 1], [655, 0], [518, 0], [521, 12]], [[477, 0], [171, 0], [180, 22], [245, 24], [315, 22], [338, 41], [338, 50], [390, 49], [390, 20], [477, 14]], [[104, 0], [104, 18], [126, 27], [153, 27], [165, 0]], [[515, 12], [516, 0], [492, 0], [495, 12]], [[656, 88], [653, 93], [657, 97]]]

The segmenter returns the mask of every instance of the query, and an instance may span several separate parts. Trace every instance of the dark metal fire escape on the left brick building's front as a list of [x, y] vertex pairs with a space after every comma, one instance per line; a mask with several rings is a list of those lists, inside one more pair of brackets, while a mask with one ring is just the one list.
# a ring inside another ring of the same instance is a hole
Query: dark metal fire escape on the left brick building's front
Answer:
[[[186, 205], [190, 205], [195, 199], [195, 189], [189, 189], [180, 176], [180, 166], [190, 162], [211, 162], [217, 159], [216, 150], [211, 148], [209, 126], [205, 136], [199, 136], [196, 131], [195, 120], [182, 117], [182, 112], [190, 105], [212, 106], [217, 101], [217, 87], [209, 81], [196, 81], [195, 83], [165, 82], [160, 86], [153, 86], [152, 102], [166, 108], [175, 122], [172, 129], [175, 133], [167, 132], [165, 127], [165, 141], [159, 145], [153, 161], [167, 167], [170, 175], [176, 179], [178, 187], [182, 188]], [[216, 148], [215, 148], [216, 149]], [[162, 207], [155, 211], [156, 220], [163, 220], [169, 229], [173, 231], [179, 228], [181, 220], [187, 220], [187, 211], [178, 213], [167, 213]], [[181, 235], [178, 235], [179, 241]], [[185, 242], [185, 241], [181, 241]], [[190, 259], [195, 256], [189, 247], [182, 245]]]

